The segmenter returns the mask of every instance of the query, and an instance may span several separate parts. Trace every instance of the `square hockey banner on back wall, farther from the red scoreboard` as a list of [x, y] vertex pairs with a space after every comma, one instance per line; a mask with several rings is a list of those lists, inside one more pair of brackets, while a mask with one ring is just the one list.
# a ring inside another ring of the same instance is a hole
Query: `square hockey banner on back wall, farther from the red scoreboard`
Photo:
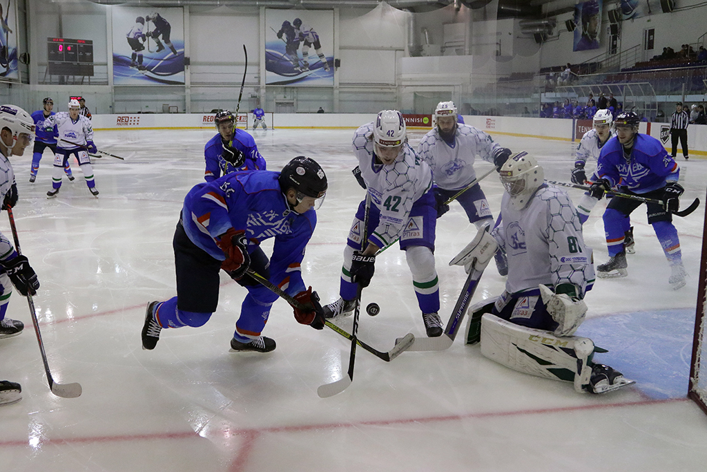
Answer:
[[334, 86], [334, 11], [265, 10], [265, 84]]

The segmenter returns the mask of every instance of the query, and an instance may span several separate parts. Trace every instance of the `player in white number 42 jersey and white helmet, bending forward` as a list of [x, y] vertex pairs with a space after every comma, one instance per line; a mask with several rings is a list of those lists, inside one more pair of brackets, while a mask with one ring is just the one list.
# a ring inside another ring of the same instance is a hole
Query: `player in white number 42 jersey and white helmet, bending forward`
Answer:
[[368, 287], [375, 253], [400, 238], [426, 333], [443, 333], [438, 316], [439, 282], [433, 255], [437, 208], [432, 171], [407, 144], [407, 127], [397, 110], [383, 110], [375, 121], [356, 129], [352, 144], [371, 205], [368, 245], [361, 247], [366, 200], [358, 205], [344, 249], [339, 295], [324, 307], [325, 317], [348, 316], [356, 308], [357, 284]]

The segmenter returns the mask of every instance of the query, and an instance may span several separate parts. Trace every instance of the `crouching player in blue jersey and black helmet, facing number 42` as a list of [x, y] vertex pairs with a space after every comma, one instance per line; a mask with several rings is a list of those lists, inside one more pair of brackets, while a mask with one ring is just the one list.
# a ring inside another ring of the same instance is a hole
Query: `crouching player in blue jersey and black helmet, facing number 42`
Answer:
[[[221, 269], [248, 291], [231, 349], [270, 352], [276, 346], [261, 333], [277, 295], [247, 275], [249, 268], [308, 307], [294, 309], [299, 323], [323, 329], [316, 292], [306, 288], [300, 264], [326, 191], [324, 171], [304, 156], [281, 172], [230, 173], [192, 188], [173, 241], [177, 296], [148, 304], [143, 349], [155, 348], [163, 328], [197, 328], [209, 321], [218, 306]], [[275, 238], [270, 258], [259, 246], [268, 238]]]

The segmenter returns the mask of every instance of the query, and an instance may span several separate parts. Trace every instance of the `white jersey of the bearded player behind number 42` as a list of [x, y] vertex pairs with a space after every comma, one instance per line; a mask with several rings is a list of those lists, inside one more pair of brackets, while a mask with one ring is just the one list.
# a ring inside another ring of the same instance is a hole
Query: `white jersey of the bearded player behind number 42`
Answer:
[[437, 127], [420, 141], [417, 152], [432, 168], [435, 183], [445, 190], [461, 190], [477, 178], [477, 156], [493, 163], [493, 154], [503, 149], [493, 138], [469, 125], [457, 125], [454, 146], [447, 144]]

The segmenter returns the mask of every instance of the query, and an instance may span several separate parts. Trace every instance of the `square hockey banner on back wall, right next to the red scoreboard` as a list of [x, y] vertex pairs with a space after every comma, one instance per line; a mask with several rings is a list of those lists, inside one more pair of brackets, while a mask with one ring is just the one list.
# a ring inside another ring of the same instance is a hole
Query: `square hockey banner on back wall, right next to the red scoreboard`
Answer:
[[113, 84], [184, 84], [182, 8], [111, 8]]

